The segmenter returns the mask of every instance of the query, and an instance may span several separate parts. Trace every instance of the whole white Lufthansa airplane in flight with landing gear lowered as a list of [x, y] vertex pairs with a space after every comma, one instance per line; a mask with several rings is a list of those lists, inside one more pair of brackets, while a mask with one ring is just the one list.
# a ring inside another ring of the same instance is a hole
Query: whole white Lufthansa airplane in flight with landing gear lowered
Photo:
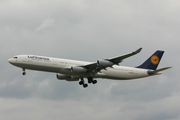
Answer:
[[85, 62], [70, 59], [60, 59], [38, 55], [16, 55], [8, 59], [8, 62], [23, 70], [23, 75], [26, 75], [25, 70], [37, 70], [44, 72], [54, 72], [59, 80], [79, 81], [79, 85], [84, 88], [88, 87], [84, 78], [90, 84], [96, 84], [94, 78], [104, 78], [113, 80], [131, 80], [144, 78], [161, 74], [161, 71], [171, 67], [157, 69], [164, 51], [157, 50], [144, 63], [137, 67], [120, 66], [124, 59], [138, 54], [142, 48], [134, 52], [113, 57], [109, 59], [101, 59], [96, 62]]

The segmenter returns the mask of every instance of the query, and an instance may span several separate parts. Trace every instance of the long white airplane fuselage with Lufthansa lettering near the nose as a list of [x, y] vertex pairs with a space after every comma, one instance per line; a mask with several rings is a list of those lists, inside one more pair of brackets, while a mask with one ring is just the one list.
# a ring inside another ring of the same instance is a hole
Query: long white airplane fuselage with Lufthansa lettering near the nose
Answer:
[[[91, 63], [37, 55], [17, 55], [13, 58], [10, 58], [8, 61], [11, 64], [23, 69], [61, 73], [74, 77], [87, 77], [87, 74], [74, 73], [70, 70], [71, 67], [84, 66]], [[146, 69], [113, 65], [112, 67], [108, 67], [98, 72], [94, 78], [107, 78], [116, 80], [136, 79], [149, 76], [147, 71], [148, 70]]]

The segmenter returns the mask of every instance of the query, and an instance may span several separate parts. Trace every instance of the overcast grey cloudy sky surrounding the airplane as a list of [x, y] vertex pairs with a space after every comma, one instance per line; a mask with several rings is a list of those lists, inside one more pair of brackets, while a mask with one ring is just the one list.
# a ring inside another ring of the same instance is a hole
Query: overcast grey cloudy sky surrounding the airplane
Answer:
[[[179, 120], [179, 0], [0, 0], [0, 119]], [[165, 50], [160, 76], [98, 79], [87, 89], [55, 74], [10, 65], [17, 54], [78, 60], [122, 55], [138, 66]]]

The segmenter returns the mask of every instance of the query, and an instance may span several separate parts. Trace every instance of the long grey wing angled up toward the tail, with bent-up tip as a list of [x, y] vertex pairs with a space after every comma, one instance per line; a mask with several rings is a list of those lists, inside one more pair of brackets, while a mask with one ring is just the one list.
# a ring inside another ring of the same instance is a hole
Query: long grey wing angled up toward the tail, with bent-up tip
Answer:
[[142, 48], [139, 48], [138, 50], [131, 52], [129, 54], [125, 54], [125, 55], [110, 58], [110, 59], [98, 60], [95, 63], [91, 63], [91, 64], [84, 65], [81, 67], [86, 68], [89, 73], [92, 73], [95, 75], [97, 74], [97, 72], [100, 72], [102, 69], [106, 69], [107, 67], [112, 67], [113, 65], [118, 65], [124, 59], [139, 53], [141, 50]]

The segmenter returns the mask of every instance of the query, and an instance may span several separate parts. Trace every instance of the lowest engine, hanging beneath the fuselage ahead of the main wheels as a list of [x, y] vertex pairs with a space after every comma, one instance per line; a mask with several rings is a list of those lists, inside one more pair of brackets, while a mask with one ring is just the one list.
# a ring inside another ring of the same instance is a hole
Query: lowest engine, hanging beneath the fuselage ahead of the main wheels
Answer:
[[57, 74], [56, 75], [57, 79], [59, 80], [66, 80], [66, 81], [79, 81], [78, 77], [73, 77], [73, 76], [67, 76], [67, 75], [63, 75], [63, 74]]

